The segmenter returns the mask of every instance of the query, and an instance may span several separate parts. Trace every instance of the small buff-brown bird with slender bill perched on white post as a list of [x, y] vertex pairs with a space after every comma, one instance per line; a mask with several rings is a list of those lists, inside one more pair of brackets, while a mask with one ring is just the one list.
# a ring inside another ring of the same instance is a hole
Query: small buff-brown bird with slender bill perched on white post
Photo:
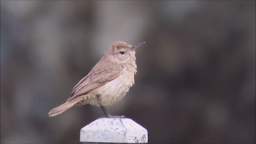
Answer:
[[48, 115], [56, 116], [72, 106], [91, 104], [100, 106], [108, 118], [125, 118], [110, 115], [104, 106], [120, 101], [134, 85], [137, 72], [135, 50], [145, 43], [131, 46], [126, 42], [114, 42], [88, 75], [76, 84], [68, 100], [50, 110]]

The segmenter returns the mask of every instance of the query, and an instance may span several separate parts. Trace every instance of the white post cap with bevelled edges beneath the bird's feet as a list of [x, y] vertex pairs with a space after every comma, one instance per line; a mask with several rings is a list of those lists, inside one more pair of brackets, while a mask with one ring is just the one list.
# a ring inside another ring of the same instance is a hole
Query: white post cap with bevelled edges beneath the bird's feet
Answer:
[[80, 142], [148, 143], [148, 131], [130, 118], [98, 118], [80, 130]]

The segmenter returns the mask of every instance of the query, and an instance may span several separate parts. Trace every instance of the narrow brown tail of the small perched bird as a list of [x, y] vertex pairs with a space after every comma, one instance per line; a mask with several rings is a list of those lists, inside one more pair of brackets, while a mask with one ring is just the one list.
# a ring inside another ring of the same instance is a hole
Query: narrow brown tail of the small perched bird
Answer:
[[57, 106], [56, 108], [53, 108], [52, 110], [50, 110], [50, 112], [48, 112], [48, 116], [51, 117], [51, 116], [56, 116], [58, 114], [61, 114], [62, 112], [66, 111], [69, 108], [71, 108], [72, 106], [74, 106], [79, 101], [80, 101], [80, 99], [67, 101], [64, 104]]

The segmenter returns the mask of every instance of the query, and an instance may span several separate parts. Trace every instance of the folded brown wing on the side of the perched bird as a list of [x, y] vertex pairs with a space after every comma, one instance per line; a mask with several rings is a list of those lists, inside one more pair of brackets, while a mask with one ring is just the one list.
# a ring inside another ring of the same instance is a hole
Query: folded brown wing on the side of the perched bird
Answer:
[[109, 60], [99, 61], [89, 72], [87, 76], [82, 78], [73, 88], [71, 96], [67, 101], [78, 98], [107, 82], [120, 76], [124, 67], [122, 64], [113, 63]]

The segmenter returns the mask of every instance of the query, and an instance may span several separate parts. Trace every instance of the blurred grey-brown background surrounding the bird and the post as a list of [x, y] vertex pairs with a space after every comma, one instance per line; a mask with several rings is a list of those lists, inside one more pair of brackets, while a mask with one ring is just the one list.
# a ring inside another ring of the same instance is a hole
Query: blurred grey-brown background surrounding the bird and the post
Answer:
[[135, 86], [106, 107], [149, 143], [255, 143], [255, 1], [1, 0], [1, 143], [80, 143], [96, 106], [66, 102], [113, 42], [136, 51]]

